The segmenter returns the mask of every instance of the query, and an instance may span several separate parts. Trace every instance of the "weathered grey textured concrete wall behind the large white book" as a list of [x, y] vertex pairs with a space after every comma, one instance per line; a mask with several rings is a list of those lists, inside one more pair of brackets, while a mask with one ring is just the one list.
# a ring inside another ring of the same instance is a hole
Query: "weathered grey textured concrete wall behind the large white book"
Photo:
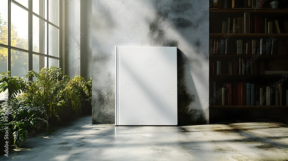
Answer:
[[178, 47], [178, 124], [209, 123], [208, 0], [92, 1], [92, 123], [114, 123], [115, 46]]

